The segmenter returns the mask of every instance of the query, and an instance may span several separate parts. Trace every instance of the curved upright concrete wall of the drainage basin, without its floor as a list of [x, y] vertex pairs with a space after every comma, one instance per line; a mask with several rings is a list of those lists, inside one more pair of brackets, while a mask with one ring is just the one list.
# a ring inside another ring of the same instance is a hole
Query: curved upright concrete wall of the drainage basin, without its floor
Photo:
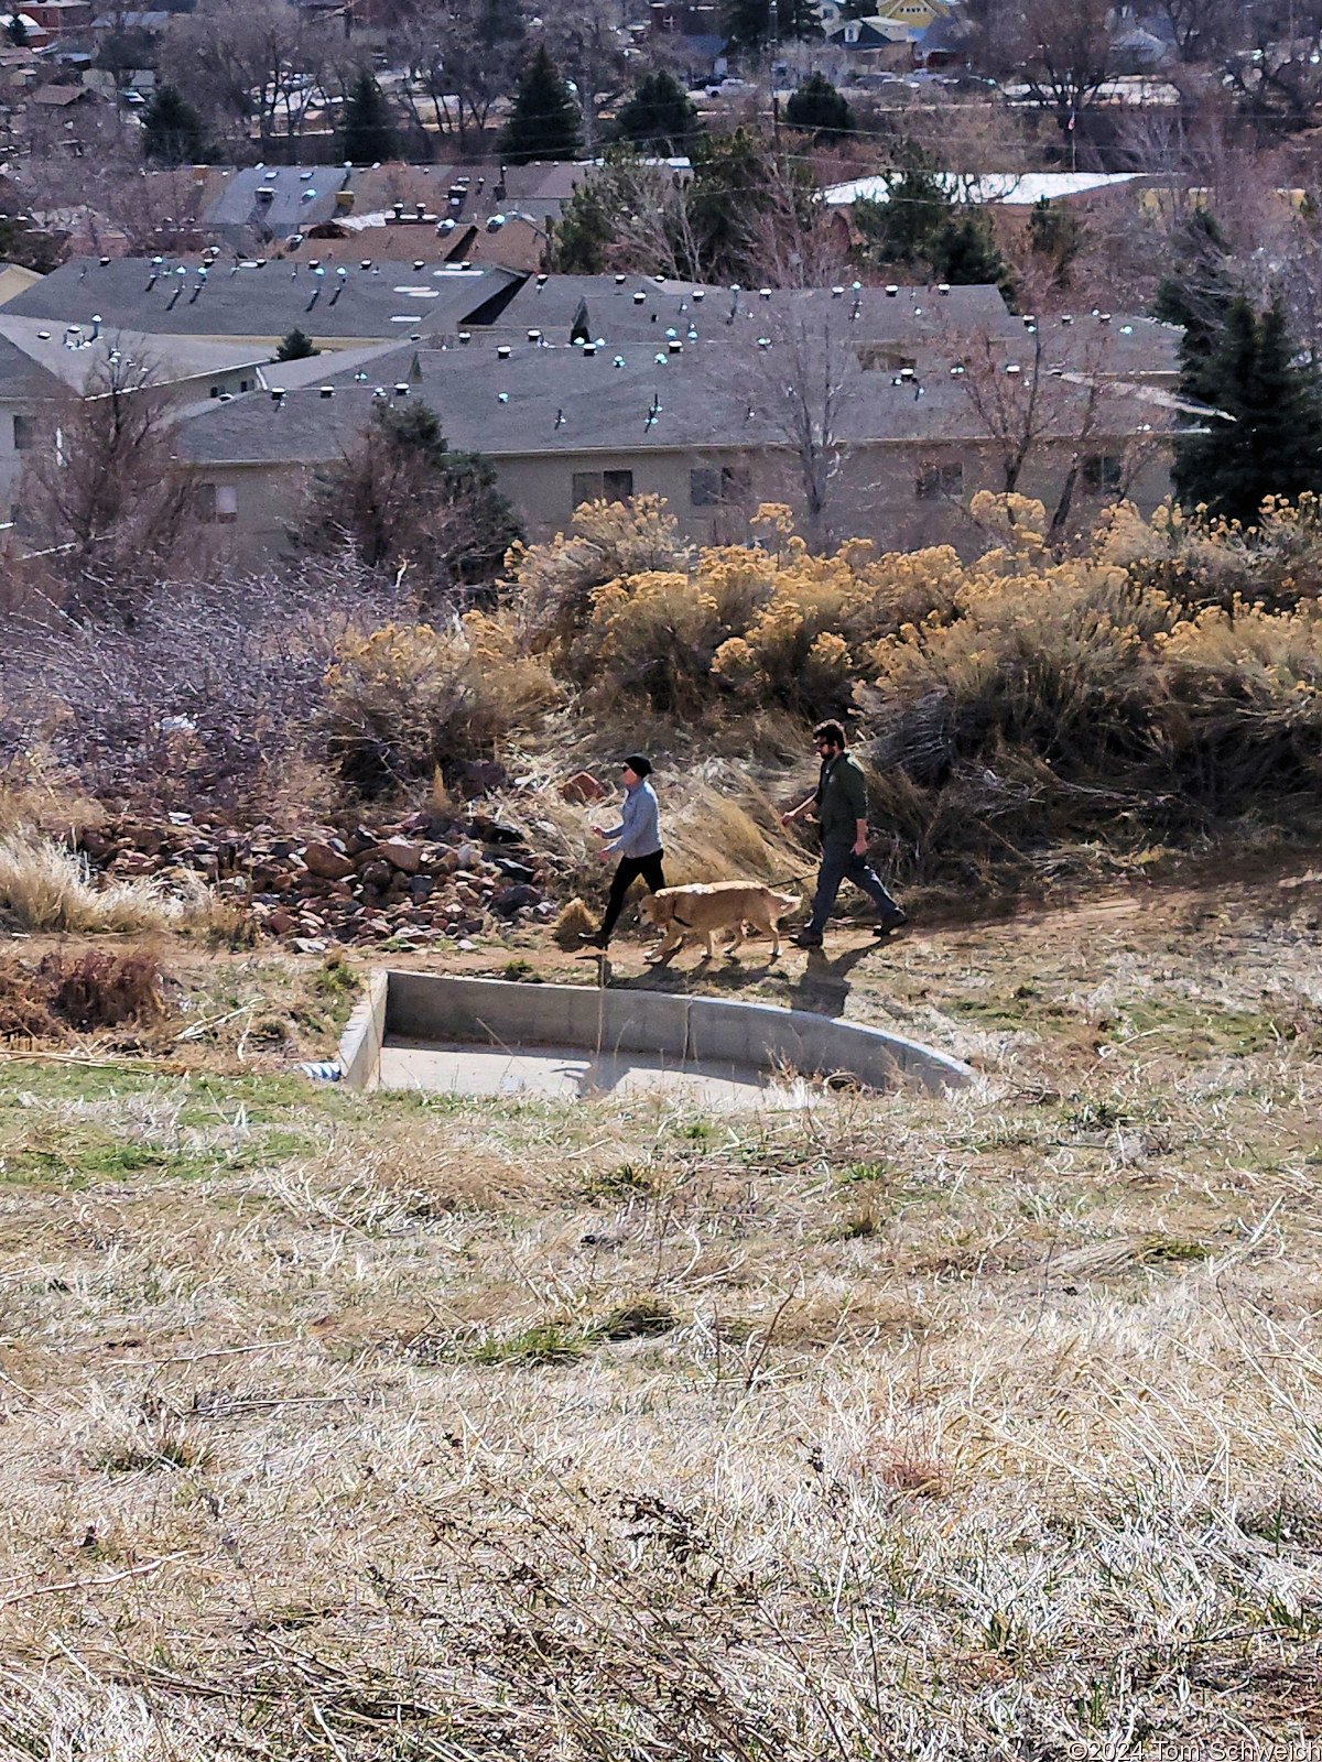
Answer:
[[[478, 1041], [511, 1052], [518, 1047], [587, 1047], [647, 1052], [675, 1064], [710, 1061], [813, 1077], [848, 1073], [878, 1089], [897, 1077], [913, 1078], [927, 1089], [961, 1089], [973, 1077], [966, 1064], [945, 1052], [880, 1027], [837, 1022], [806, 1010], [677, 997], [670, 992], [516, 985], [439, 973], [388, 973], [377, 974], [377, 980], [386, 981], [379, 1010], [372, 1004], [360, 1029], [351, 1022], [340, 1050], [345, 1082], [356, 1087], [372, 1084], [386, 1034]], [[349, 1048], [353, 1034], [358, 1038]]]

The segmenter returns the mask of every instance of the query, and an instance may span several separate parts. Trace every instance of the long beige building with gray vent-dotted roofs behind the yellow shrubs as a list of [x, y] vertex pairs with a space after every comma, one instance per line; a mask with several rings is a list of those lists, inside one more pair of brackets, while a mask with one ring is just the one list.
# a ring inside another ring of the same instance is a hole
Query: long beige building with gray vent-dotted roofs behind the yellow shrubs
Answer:
[[[1140, 506], [1169, 490], [1162, 437], [1188, 416], [1174, 395], [1177, 331], [1149, 319], [1043, 321], [1029, 342], [994, 287], [749, 294], [531, 275], [437, 261], [434, 227], [367, 229], [430, 234], [409, 263], [368, 255], [363, 233], [305, 238], [270, 259], [65, 263], [0, 308], [11, 386], [0, 407], [23, 418], [23, 439], [109, 351], [152, 359], [178, 407], [180, 455], [226, 509], [217, 537], [241, 557], [286, 543], [308, 476], [374, 409], [418, 398], [451, 444], [492, 458], [532, 534], [562, 527], [582, 500], [647, 492], [666, 497], [693, 539], [724, 541], [758, 500], [798, 499], [784, 388], [795, 375], [821, 381], [821, 361], [795, 356], [800, 335], [828, 352], [839, 386], [839, 527], [887, 546], [968, 543], [962, 506], [999, 485], [1003, 455], [961, 381], [973, 340], [998, 379], [1001, 366], [1022, 372], [1033, 351], [1045, 363], [1059, 435], [1035, 448], [1024, 493], [1059, 495], [1077, 453], [1072, 425], [1084, 421], [1081, 507], [1128, 476], [1132, 455], [1128, 493]], [[296, 326], [321, 352], [275, 361]], [[0, 490], [16, 469], [5, 479], [0, 458]]]

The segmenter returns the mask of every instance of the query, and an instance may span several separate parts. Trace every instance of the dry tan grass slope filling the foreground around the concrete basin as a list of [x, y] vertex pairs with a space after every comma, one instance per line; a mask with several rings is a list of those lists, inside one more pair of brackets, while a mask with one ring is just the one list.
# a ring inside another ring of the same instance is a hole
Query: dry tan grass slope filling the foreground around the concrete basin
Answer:
[[164, 939], [0, 1061], [0, 1757], [1322, 1737], [1318, 913], [680, 955], [980, 1071], [765, 1117], [314, 1089], [340, 981]]

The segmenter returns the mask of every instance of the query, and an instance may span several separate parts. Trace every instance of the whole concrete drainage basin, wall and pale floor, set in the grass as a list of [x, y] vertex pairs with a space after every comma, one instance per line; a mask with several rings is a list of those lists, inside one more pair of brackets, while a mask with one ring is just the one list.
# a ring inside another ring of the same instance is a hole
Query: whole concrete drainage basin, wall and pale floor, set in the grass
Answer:
[[806, 1010], [587, 985], [375, 973], [340, 1041], [354, 1089], [592, 1096], [659, 1089], [793, 1105], [807, 1078], [962, 1089], [945, 1052]]

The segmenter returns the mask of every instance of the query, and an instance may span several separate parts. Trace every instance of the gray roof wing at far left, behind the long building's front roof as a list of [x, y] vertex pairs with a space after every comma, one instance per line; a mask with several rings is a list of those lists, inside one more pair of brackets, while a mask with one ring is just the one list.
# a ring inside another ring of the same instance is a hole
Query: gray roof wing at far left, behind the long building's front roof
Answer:
[[[435, 257], [414, 271], [400, 263], [361, 270], [360, 252], [344, 240], [331, 255], [308, 245], [294, 259], [264, 268], [217, 263], [206, 275], [178, 259], [159, 266], [143, 257], [74, 257], [11, 300], [5, 312], [62, 324], [175, 337], [284, 337], [300, 326], [310, 337], [361, 337], [402, 342], [462, 324], [469, 312], [506, 287], [508, 270], [462, 271]], [[317, 261], [323, 275], [310, 270]], [[344, 277], [338, 275], [344, 270]]]

